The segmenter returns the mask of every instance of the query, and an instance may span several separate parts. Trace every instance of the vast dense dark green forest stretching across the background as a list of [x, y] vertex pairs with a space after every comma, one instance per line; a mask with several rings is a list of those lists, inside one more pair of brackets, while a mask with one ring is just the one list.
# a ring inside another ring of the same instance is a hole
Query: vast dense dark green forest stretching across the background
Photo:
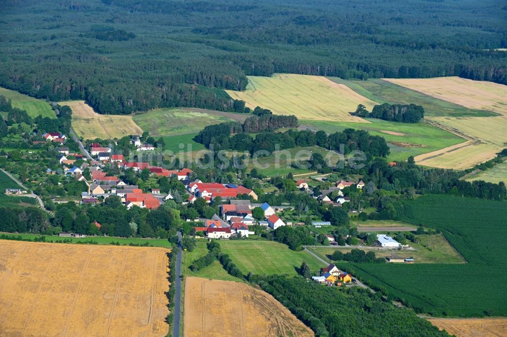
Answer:
[[127, 114], [235, 110], [222, 89], [276, 72], [507, 83], [506, 17], [496, 0], [10, 0], [0, 86]]

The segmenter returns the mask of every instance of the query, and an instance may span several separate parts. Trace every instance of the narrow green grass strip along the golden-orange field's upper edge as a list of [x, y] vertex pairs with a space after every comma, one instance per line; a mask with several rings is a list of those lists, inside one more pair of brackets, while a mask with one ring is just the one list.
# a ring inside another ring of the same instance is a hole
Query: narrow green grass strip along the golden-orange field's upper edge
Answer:
[[[7, 236], [18, 237], [21, 236], [23, 239], [33, 240], [35, 238], [40, 237], [38, 234], [12, 234], [12, 233], [3, 233]], [[149, 243], [155, 247], [165, 247], [169, 248], [171, 243], [167, 239], [143, 239], [143, 238], [119, 238], [119, 237], [109, 237], [109, 236], [87, 236], [84, 238], [68, 238], [68, 237], [59, 237], [57, 235], [44, 235], [46, 237], [46, 242], [56, 241], [56, 240], [65, 240], [70, 239], [71, 243], [87, 243], [89, 241], [95, 241], [98, 244], [111, 244], [112, 242], [119, 242], [121, 245], [132, 244], [146, 244]]]

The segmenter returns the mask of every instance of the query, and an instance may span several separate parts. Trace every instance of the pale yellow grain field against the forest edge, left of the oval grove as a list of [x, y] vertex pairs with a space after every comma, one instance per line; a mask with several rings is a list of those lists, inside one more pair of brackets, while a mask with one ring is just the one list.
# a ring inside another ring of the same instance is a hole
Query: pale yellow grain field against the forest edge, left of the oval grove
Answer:
[[372, 109], [375, 103], [349, 87], [323, 76], [274, 74], [272, 77], [248, 76], [245, 91], [227, 91], [253, 109], [260, 106], [274, 114], [295, 115], [307, 120], [333, 120], [368, 123], [349, 114], [357, 105]]

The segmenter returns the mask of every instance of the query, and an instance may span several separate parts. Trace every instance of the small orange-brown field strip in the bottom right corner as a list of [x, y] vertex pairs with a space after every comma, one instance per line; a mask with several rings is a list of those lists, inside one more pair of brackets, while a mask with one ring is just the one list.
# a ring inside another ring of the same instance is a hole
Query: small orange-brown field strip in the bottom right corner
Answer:
[[507, 318], [435, 318], [428, 319], [439, 329], [457, 337], [507, 336]]

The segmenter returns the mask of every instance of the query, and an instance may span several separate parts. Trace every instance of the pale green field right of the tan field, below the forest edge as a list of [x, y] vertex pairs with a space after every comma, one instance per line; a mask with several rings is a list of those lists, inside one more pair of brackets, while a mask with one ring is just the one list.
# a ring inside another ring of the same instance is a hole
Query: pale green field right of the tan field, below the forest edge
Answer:
[[143, 131], [150, 132], [150, 136], [160, 137], [195, 134], [207, 125], [243, 121], [246, 117], [247, 114], [205, 109], [160, 108], [135, 114], [132, 118]]

